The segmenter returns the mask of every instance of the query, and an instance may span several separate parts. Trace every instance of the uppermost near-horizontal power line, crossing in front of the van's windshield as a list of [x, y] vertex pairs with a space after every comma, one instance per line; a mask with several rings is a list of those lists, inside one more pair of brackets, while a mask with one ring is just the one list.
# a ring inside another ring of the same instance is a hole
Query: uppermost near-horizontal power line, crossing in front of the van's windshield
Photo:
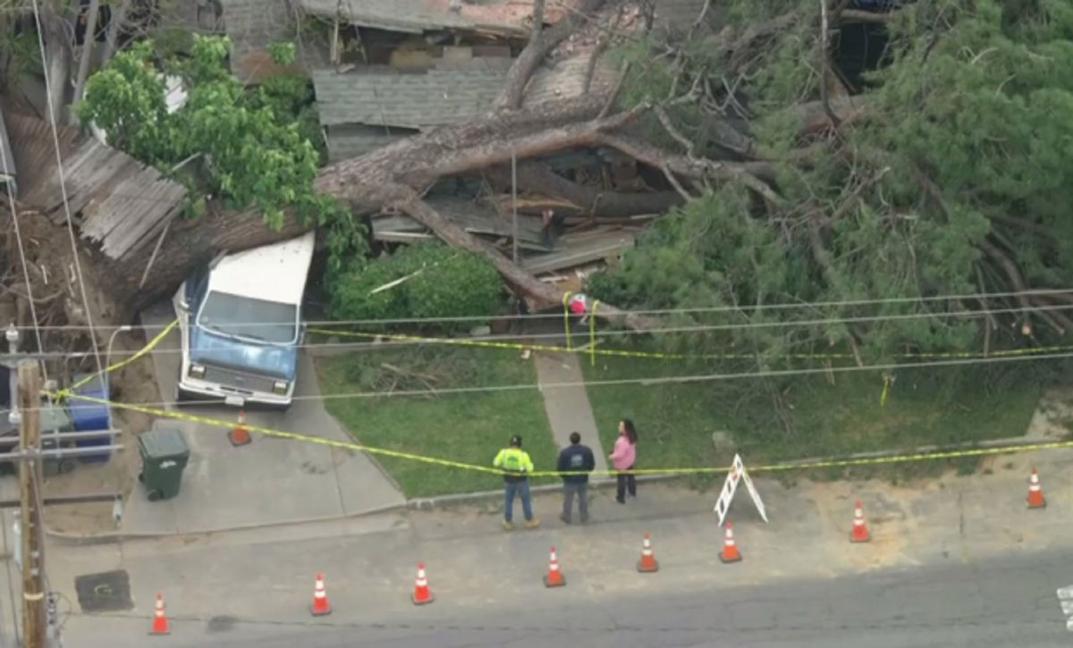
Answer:
[[[928, 297], [883, 297], [874, 299], [849, 299], [841, 301], [800, 301], [800, 303], [779, 303], [779, 304], [759, 304], [755, 306], [738, 307], [738, 306], [709, 306], [709, 307], [694, 307], [694, 308], [666, 308], [666, 309], [647, 309], [647, 310], [631, 310], [631, 314], [641, 315], [657, 315], [657, 314], [681, 314], [681, 313], [705, 313], [705, 312], [731, 312], [739, 313], [741, 311], [756, 312], [756, 311], [769, 311], [769, 310], [790, 310], [790, 309], [805, 309], [805, 308], [828, 308], [828, 307], [846, 307], [846, 306], [869, 306], [869, 305], [888, 305], [888, 304], [912, 304], [917, 301], [923, 303], [934, 303], [934, 301], [958, 301], [958, 300], [983, 300], [983, 299], [996, 299], [1005, 297], [1029, 297], [1029, 296], [1043, 296], [1043, 295], [1069, 295], [1073, 294], [1073, 289], [1054, 289], [1054, 290], [1030, 290], [1030, 291], [1015, 291], [1015, 292], [997, 292], [997, 293], [975, 293], [975, 294], [956, 294], [956, 295], [932, 295]], [[960, 311], [964, 314], [988, 314], [988, 313], [999, 313], [999, 312], [1031, 312], [1039, 310], [1057, 310], [1057, 308], [1052, 307], [1017, 307], [1002, 310], [966, 310]], [[931, 318], [931, 316], [952, 316], [960, 313], [913, 313], [913, 316]], [[488, 322], [489, 320], [497, 321], [515, 321], [515, 320], [542, 320], [548, 318], [561, 318], [562, 313], [529, 313], [529, 314], [511, 314], [511, 315], [457, 315], [457, 316], [443, 316], [443, 318], [384, 318], [384, 319], [366, 319], [366, 320], [314, 320], [306, 322], [309, 326], [361, 326], [370, 324], [418, 324], [427, 322]], [[893, 316], [893, 315], [892, 315]], [[264, 322], [250, 322], [236, 324], [241, 326], [261, 326], [261, 325], [271, 325], [278, 326], [278, 324], [265, 324]], [[164, 328], [166, 324], [132, 324], [132, 328], [138, 328], [144, 330], [159, 330]], [[28, 327], [24, 327], [28, 328]], [[112, 325], [86, 325], [86, 324], [68, 324], [68, 325], [57, 325], [57, 326], [44, 326], [44, 330], [87, 330], [87, 329], [114, 329], [116, 326]]]

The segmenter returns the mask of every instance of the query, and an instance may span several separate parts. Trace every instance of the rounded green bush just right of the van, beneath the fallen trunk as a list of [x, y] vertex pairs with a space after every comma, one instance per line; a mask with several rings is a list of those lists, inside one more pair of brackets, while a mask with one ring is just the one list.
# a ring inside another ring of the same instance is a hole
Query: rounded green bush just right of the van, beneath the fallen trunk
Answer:
[[491, 262], [439, 241], [407, 246], [372, 262], [353, 261], [333, 277], [328, 290], [332, 316], [339, 320], [490, 318], [503, 303], [502, 280]]

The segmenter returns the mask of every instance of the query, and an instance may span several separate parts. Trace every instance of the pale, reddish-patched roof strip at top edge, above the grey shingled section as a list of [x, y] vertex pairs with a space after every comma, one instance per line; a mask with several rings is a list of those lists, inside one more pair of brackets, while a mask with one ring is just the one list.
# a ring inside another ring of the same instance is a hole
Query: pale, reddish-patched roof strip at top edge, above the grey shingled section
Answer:
[[524, 36], [528, 29], [519, 23], [467, 17], [465, 8], [454, 12], [447, 0], [300, 0], [305, 11], [386, 31], [422, 33], [436, 29], [490, 31]]

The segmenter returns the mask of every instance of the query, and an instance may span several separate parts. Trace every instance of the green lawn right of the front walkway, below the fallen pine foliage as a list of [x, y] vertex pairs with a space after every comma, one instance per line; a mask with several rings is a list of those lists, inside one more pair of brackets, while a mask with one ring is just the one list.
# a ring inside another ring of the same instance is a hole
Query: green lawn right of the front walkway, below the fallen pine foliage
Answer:
[[[597, 356], [592, 367], [589, 358], [583, 357], [580, 364], [587, 381], [714, 372], [648, 358]], [[823, 374], [799, 377], [784, 395], [795, 424], [792, 432], [778, 424], [755, 423], [771, 421], [773, 400], [764, 395], [743, 398], [743, 389], [763, 389], [760, 381], [589, 385], [588, 394], [597, 421], [622, 416], [634, 421], [640, 435], [638, 468], [723, 465], [729, 457], [725, 453], [717, 456], [715, 431], [730, 437], [747, 466], [1019, 437], [1027, 431], [1039, 402], [1039, 387], [1016, 382], [990, 389], [966, 385], [941, 398], [930, 383], [915, 382], [925, 379], [923, 371], [941, 370], [900, 371], [883, 407], [883, 382], [878, 372], [835, 373], [834, 385]], [[609, 447], [615, 437], [613, 426], [600, 427], [601, 439]], [[914, 465], [909, 473], [930, 470], [924, 463]], [[971, 461], [974, 465], [975, 460]], [[968, 470], [971, 466], [958, 468]], [[865, 470], [871, 471], [865, 474], [876, 473], [874, 468]], [[897, 471], [906, 474], [905, 465]], [[856, 469], [853, 474], [862, 472]], [[831, 476], [846, 473], [826, 471]], [[697, 478], [699, 484], [707, 481]]]

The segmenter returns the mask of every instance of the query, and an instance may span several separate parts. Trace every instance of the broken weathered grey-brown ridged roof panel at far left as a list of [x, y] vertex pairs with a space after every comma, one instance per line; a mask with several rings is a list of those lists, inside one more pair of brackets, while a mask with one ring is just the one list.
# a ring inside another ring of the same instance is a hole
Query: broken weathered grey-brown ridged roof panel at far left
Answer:
[[[13, 115], [12, 148], [20, 175], [20, 198], [56, 223], [67, 219], [52, 127], [35, 117]], [[187, 190], [127, 153], [57, 127], [63, 182], [71, 213], [80, 215], [84, 238], [101, 245], [112, 259], [122, 259], [153, 240], [182, 208]]]

